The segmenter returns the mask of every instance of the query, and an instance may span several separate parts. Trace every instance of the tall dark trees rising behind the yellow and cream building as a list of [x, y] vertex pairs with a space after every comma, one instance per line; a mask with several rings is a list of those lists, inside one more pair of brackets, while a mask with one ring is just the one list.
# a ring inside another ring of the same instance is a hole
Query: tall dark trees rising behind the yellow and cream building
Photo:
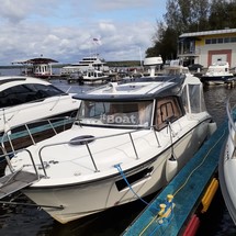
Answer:
[[164, 20], [156, 23], [147, 57], [176, 59], [183, 33], [236, 29], [236, 0], [167, 0], [166, 10]]

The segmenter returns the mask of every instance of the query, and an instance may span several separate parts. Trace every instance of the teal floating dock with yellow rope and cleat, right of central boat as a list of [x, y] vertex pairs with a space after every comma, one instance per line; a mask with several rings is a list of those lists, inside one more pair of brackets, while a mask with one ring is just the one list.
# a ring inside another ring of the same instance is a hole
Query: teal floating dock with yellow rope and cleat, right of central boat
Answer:
[[[228, 128], [225, 122], [126, 228], [123, 235], [182, 235], [187, 222], [196, 210], [202, 195], [216, 173], [220, 154], [227, 133]], [[168, 194], [173, 195], [171, 206], [169, 206], [169, 212], [167, 210], [160, 216], [160, 204], [167, 203]]]

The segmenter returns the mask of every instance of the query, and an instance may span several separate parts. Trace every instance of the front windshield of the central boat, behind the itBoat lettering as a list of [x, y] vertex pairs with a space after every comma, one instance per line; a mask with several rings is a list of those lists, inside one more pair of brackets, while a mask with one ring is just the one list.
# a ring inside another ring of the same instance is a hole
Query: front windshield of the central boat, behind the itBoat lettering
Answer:
[[148, 127], [154, 101], [94, 102], [82, 101], [78, 113], [81, 124]]

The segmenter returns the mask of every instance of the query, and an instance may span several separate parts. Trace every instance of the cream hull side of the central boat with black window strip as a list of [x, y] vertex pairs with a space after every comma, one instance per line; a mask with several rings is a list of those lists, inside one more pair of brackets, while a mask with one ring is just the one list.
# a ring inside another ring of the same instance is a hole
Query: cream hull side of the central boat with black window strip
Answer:
[[[205, 120], [191, 127], [173, 144], [173, 153], [178, 157], [178, 171], [189, 161], [207, 137], [209, 123], [210, 120]], [[135, 201], [160, 190], [168, 183], [166, 164], [171, 155], [171, 147], [168, 146], [164, 151], [157, 153], [153, 158], [141, 162], [141, 165], [123, 169], [127, 180], [133, 178], [131, 186], [124, 182], [117, 169], [115, 175], [82, 183], [47, 188], [33, 184], [24, 189], [23, 193], [38, 205], [64, 206], [63, 210], [43, 209], [56, 221], [65, 224]]]

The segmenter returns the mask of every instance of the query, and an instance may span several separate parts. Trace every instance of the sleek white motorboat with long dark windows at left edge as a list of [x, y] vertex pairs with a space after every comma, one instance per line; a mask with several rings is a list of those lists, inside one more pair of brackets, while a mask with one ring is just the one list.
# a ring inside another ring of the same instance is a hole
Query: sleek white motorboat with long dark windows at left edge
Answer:
[[34, 77], [0, 77], [0, 133], [33, 121], [75, 116], [80, 101], [74, 94]]

